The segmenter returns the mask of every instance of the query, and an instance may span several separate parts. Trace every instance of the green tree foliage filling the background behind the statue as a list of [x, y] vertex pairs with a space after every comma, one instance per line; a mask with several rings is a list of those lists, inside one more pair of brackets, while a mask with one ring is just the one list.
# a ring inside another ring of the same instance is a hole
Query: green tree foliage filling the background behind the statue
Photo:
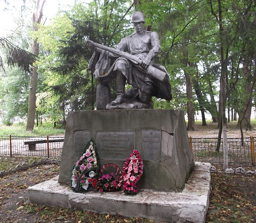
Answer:
[[[231, 107], [243, 111], [247, 98], [241, 67], [245, 60], [249, 61], [248, 74], [252, 76], [252, 81], [256, 76], [256, 5], [253, 0], [220, 2], [221, 32], [218, 1], [139, 1], [136, 7], [145, 14], [145, 25], [159, 34], [162, 52], [155, 62], [167, 68], [172, 86], [173, 100], [166, 102], [153, 98], [155, 108], [182, 109], [186, 112], [186, 71], [193, 83], [195, 110], [203, 109], [217, 117], [222, 39], [228, 73], [226, 92]], [[28, 39], [38, 39], [41, 46], [37, 61], [39, 119], [64, 123], [68, 111], [95, 109], [97, 83], [93, 74], [86, 70], [92, 51], [86, 48], [85, 41], [91, 39], [116, 47], [124, 36], [133, 32], [129, 20], [133, 13], [132, 4], [133, 1], [124, 0], [93, 0], [88, 4], [78, 1], [66, 12], [60, 10], [49, 25], [38, 25], [37, 32], [21, 30]], [[29, 41], [19, 36], [15, 38], [17, 46], [29, 49]], [[184, 49], [188, 53], [188, 64], [184, 64]], [[23, 83], [23, 87], [20, 85], [22, 75], [26, 77], [26, 86]], [[27, 91], [24, 89], [28, 89], [28, 77], [16, 68], [13, 71], [7, 69], [1, 75], [0, 109], [6, 124], [11, 124], [17, 116], [25, 117]], [[11, 87], [15, 85], [18, 86], [17, 91]], [[7, 88], [8, 92], [4, 90]], [[112, 94], [115, 94], [114, 89], [112, 83]], [[215, 99], [210, 100], [210, 96]], [[253, 96], [255, 98], [255, 93]]]

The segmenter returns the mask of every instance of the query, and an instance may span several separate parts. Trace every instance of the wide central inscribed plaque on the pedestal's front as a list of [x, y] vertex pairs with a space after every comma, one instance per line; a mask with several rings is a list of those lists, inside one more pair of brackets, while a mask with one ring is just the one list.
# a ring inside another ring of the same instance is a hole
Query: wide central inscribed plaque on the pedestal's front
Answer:
[[126, 160], [135, 148], [135, 132], [97, 132], [100, 159]]

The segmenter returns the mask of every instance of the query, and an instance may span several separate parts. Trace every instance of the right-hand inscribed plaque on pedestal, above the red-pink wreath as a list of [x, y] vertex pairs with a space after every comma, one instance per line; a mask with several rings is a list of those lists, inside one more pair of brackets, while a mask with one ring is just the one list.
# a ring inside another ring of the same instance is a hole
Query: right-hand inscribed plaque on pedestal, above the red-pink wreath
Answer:
[[161, 130], [142, 130], [141, 147], [142, 159], [161, 160]]

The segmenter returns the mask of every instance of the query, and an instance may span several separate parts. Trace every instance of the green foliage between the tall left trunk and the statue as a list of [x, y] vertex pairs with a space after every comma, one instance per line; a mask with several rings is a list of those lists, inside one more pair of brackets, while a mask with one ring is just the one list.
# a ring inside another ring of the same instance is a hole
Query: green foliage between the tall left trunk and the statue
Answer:
[[[130, 26], [125, 15], [131, 13], [128, 10], [131, 4], [126, 1], [108, 4], [92, 1], [87, 6], [77, 3], [66, 13], [59, 13], [49, 26], [39, 27], [36, 37], [43, 49], [50, 52], [42, 58], [39, 70], [47, 75], [45, 83], [52, 91], [47, 94], [54, 95], [56, 109], [57, 104], [68, 111], [94, 109], [96, 84], [92, 74], [86, 71], [92, 51], [85, 46], [85, 40], [116, 46], [130, 33], [124, 28]], [[45, 105], [41, 103], [38, 110], [50, 115], [49, 106], [43, 108]]]

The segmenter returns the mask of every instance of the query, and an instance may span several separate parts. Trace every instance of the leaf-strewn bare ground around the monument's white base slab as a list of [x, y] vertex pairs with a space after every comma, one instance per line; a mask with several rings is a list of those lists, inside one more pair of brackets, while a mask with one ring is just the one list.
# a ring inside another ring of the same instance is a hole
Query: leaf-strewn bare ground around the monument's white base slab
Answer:
[[[2, 158], [2, 157], [1, 157]], [[7, 157], [5, 157], [7, 158]], [[25, 159], [24, 159], [25, 160]], [[19, 158], [19, 162], [24, 162]], [[16, 162], [7, 158], [12, 165]], [[32, 160], [31, 160], [32, 161]], [[0, 223], [4, 222], [154, 222], [148, 219], [124, 218], [119, 215], [98, 214], [89, 211], [64, 209], [28, 202], [27, 188], [59, 174], [58, 165], [30, 167], [9, 174], [0, 182]], [[256, 177], [234, 174], [212, 173], [212, 191], [206, 222], [256, 223]]]

